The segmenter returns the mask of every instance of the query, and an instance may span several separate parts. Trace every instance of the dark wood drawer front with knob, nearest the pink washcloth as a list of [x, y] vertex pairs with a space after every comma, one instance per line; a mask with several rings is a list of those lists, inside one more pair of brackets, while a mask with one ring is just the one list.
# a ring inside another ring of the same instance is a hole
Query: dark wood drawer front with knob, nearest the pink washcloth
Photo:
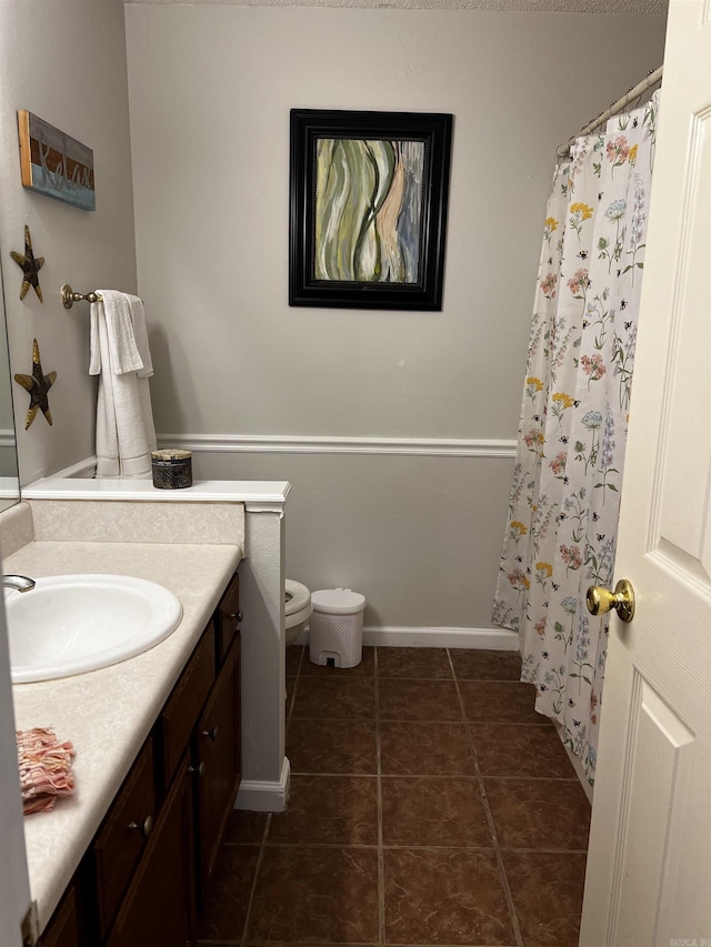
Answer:
[[107, 933], [156, 820], [153, 744], [143, 745], [93, 843], [97, 915]]

